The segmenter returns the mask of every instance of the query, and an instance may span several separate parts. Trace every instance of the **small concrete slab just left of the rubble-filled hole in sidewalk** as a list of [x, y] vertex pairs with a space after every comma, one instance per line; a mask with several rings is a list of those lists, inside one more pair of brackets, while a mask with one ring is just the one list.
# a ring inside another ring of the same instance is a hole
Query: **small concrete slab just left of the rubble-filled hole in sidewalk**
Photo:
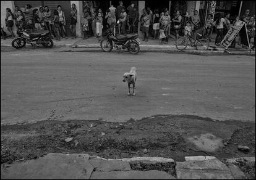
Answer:
[[[95, 163], [96, 165], [96, 163]], [[130, 171], [129, 162], [123, 162], [121, 160], [101, 160], [100, 165], [96, 168], [96, 171]]]

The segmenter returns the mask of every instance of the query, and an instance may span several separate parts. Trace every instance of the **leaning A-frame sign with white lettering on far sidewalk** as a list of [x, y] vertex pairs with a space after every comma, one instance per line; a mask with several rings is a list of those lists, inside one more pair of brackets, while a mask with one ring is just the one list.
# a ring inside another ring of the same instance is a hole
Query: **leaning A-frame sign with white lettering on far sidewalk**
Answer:
[[238, 20], [236, 24], [228, 30], [228, 33], [224, 36], [223, 40], [221, 41], [221, 45], [226, 49], [230, 46], [232, 41], [236, 38], [236, 36], [240, 33], [241, 42], [245, 46], [249, 46], [249, 39], [247, 36], [247, 30], [245, 23], [241, 20]]

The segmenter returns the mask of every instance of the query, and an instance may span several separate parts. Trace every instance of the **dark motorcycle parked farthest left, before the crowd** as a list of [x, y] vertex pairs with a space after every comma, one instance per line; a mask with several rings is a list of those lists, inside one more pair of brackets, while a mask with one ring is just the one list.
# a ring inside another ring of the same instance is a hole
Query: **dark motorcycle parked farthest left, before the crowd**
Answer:
[[22, 30], [17, 32], [18, 38], [12, 41], [12, 47], [20, 49], [27, 43], [31, 44], [34, 49], [36, 44], [42, 44], [44, 47], [53, 47], [53, 40], [49, 38], [49, 31], [41, 31], [28, 34], [27, 31]]

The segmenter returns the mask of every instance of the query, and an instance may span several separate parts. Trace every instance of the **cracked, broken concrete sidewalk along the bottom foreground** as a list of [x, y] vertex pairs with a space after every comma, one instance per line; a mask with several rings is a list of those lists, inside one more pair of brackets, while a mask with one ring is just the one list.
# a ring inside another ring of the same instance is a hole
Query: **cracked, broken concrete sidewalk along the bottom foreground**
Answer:
[[[237, 162], [253, 166], [255, 157], [134, 157], [105, 159], [85, 153], [49, 153], [27, 162], [1, 165], [1, 179], [247, 179]], [[168, 168], [166, 168], [168, 167]]]

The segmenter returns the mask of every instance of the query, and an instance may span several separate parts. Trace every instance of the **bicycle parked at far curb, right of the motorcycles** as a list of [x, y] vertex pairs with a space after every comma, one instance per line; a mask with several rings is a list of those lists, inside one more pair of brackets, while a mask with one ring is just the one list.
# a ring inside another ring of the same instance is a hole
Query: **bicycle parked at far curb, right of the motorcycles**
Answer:
[[[179, 50], [184, 50], [189, 45], [191, 47], [196, 47], [197, 50], [207, 50], [209, 47], [209, 41], [208, 39], [199, 39], [198, 36], [202, 36], [199, 33], [197, 33], [197, 37], [194, 39], [192, 36], [187, 33], [186, 36], [181, 37], [176, 42], [176, 48]], [[194, 40], [194, 41], [192, 41]], [[190, 43], [190, 44], [189, 44]]]

